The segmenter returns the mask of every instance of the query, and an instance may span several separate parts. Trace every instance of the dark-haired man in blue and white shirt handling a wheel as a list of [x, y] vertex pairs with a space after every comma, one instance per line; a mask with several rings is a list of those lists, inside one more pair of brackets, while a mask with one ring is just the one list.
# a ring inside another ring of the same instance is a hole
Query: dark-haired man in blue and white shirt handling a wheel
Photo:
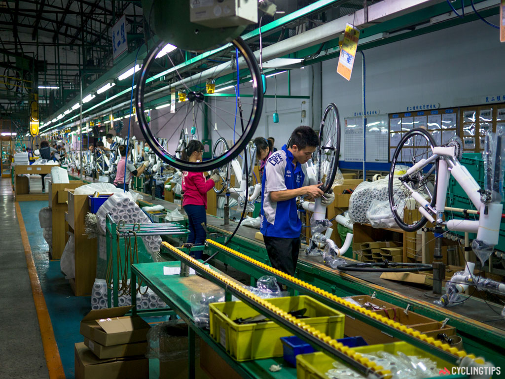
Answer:
[[272, 267], [294, 276], [300, 249], [301, 221], [296, 197], [315, 199], [323, 194], [318, 185], [308, 185], [305, 164], [319, 146], [319, 137], [308, 126], [291, 134], [267, 160], [262, 181], [261, 233]]

